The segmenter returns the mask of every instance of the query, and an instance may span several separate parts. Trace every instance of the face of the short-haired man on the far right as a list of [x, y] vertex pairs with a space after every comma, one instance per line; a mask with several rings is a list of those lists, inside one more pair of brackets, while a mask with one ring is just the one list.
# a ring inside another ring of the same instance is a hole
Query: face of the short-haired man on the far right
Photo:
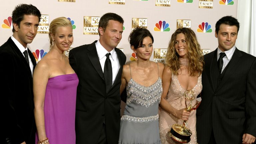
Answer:
[[221, 24], [218, 34], [215, 31], [215, 37], [218, 38], [218, 47], [220, 50], [223, 52], [227, 51], [231, 49], [236, 43], [237, 27]]

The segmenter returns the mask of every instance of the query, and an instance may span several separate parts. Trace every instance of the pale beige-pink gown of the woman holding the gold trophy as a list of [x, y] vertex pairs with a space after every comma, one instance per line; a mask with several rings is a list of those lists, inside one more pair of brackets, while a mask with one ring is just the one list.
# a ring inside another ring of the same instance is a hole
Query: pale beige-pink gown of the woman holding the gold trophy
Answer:
[[[202, 76], [200, 75], [197, 80], [196, 86], [192, 89], [196, 96], [201, 92], [202, 90]], [[172, 74], [172, 81], [171, 85], [168, 91], [168, 95], [166, 97], [166, 100], [176, 109], [182, 109], [185, 108], [185, 99], [183, 97], [183, 93], [186, 90], [183, 89], [177, 79], [177, 76]], [[192, 105], [194, 106], [196, 104], [196, 98], [192, 101]], [[167, 132], [171, 129], [173, 124], [183, 124], [183, 120], [177, 119], [174, 116], [168, 114], [163, 109], [160, 110], [159, 115], [159, 129], [160, 129], [160, 138], [162, 144], [175, 144], [177, 142], [173, 141], [171, 138], [169, 138]], [[196, 138], [196, 110], [192, 111], [189, 116], [188, 120], [188, 126], [186, 126], [192, 131], [191, 135], [191, 141], [189, 144], [197, 144], [197, 138]]]

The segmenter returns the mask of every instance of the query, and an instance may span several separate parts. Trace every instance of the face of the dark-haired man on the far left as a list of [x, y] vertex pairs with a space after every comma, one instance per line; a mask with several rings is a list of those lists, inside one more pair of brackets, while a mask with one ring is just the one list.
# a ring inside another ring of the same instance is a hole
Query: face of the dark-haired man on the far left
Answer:
[[34, 15], [24, 15], [23, 20], [20, 22], [20, 27], [17, 23], [13, 23], [14, 33], [13, 37], [27, 47], [28, 43], [31, 43], [37, 34], [39, 25], [39, 19]]

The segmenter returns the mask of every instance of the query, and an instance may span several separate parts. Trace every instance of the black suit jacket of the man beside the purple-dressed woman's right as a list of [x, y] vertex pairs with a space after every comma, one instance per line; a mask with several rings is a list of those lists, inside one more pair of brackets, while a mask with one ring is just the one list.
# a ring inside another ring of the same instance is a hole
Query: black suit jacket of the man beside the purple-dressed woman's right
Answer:
[[79, 84], [76, 100], [76, 143], [95, 144], [105, 118], [109, 144], [117, 144], [120, 128], [120, 85], [126, 57], [115, 48], [120, 69], [109, 92], [106, 93], [103, 71], [95, 43], [70, 50], [69, 62], [75, 70]]

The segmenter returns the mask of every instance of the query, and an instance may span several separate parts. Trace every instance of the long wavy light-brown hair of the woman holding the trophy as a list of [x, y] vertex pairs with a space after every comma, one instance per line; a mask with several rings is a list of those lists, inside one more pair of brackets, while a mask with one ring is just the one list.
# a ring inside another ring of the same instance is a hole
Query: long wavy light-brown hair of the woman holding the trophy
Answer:
[[177, 35], [180, 33], [183, 33], [186, 38], [188, 70], [190, 72], [190, 76], [199, 76], [200, 74], [202, 74], [203, 71], [203, 52], [201, 50], [200, 44], [196, 39], [195, 32], [189, 28], [178, 28], [172, 34], [171, 40], [168, 45], [165, 65], [170, 67], [171, 71], [175, 75], [178, 75], [180, 64], [178, 62], [179, 54], [175, 50], [175, 41]]

